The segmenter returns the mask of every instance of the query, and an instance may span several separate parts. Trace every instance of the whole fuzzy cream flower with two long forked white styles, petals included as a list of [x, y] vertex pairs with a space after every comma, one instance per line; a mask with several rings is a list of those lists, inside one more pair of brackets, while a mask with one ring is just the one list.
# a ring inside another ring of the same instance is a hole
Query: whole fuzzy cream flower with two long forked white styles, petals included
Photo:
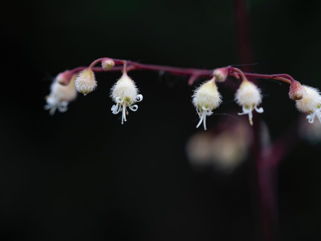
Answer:
[[212, 115], [212, 110], [219, 107], [222, 102], [222, 96], [217, 90], [215, 78], [202, 83], [202, 85], [194, 91], [192, 98], [193, 105], [200, 118], [196, 128], [198, 128], [203, 121], [204, 130], [206, 130], [206, 116]]

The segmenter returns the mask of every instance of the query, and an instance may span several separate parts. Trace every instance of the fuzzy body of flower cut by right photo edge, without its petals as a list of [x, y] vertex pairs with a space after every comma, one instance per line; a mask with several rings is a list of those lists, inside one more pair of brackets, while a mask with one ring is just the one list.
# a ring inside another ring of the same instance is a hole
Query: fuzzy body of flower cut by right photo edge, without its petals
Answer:
[[306, 91], [305, 96], [295, 101], [295, 105], [299, 112], [313, 113], [315, 110], [321, 108], [321, 95], [317, 88], [310, 87], [308, 85], [302, 85]]

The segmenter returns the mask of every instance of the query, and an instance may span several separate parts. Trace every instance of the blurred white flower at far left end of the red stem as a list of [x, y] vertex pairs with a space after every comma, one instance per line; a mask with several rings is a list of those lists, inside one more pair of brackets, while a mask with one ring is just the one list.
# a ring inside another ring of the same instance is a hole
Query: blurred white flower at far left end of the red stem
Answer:
[[46, 96], [47, 104], [44, 106], [45, 110], [50, 110], [49, 114], [53, 115], [56, 110], [65, 112], [68, 109], [69, 102], [77, 97], [77, 91], [74, 86], [76, 75], [71, 77], [69, 84], [59, 84], [57, 79], [50, 86], [50, 94]]

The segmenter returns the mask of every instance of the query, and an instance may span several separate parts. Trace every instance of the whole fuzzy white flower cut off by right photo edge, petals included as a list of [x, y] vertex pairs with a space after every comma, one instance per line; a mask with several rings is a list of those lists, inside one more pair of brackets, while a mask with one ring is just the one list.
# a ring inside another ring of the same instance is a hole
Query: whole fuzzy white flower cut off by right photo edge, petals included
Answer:
[[308, 85], [302, 85], [306, 91], [305, 96], [295, 101], [295, 105], [300, 112], [307, 113], [309, 123], [313, 123], [317, 117], [321, 123], [321, 95], [320, 91]]

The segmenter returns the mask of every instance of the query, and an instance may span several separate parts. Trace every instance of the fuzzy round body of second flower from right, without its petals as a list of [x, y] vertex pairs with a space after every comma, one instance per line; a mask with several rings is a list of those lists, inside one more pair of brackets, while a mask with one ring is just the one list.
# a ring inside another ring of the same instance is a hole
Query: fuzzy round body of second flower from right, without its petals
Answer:
[[261, 90], [252, 82], [242, 81], [239, 89], [235, 93], [235, 101], [239, 106], [250, 108], [262, 103]]

